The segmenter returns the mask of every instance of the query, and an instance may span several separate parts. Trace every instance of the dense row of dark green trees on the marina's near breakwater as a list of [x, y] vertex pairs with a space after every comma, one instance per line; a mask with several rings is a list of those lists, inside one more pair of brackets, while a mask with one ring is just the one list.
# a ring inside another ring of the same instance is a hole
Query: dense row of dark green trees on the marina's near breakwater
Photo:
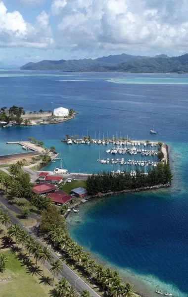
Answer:
[[148, 170], [148, 174], [136, 170], [136, 176], [124, 171], [121, 174], [112, 175], [103, 172], [102, 174], [89, 176], [86, 181], [88, 193], [91, 195], [107, 192], [118, 192], [132, 190], [142, 187], [151, 187], [159, 184], [167, 184], [172, 179], [169, 164], [159, 163], [157, 167]]

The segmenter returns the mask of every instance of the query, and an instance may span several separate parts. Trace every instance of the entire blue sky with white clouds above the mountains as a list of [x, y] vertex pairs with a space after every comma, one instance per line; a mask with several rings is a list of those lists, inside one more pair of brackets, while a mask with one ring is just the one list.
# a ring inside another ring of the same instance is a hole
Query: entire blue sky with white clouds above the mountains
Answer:
[[188, 52], [188, 0], [0, 0], [0, 61]]

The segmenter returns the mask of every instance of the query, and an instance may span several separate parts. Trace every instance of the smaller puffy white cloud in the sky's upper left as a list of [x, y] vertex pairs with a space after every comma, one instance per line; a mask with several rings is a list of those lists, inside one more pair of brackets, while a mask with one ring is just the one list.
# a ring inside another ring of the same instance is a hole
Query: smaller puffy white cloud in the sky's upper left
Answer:
[[0, 47], [48, 48], [51, 37], [49, 15], [42, 11], [34, 25], [27, 23], [19, 11], [7, 12], [0, 1]]

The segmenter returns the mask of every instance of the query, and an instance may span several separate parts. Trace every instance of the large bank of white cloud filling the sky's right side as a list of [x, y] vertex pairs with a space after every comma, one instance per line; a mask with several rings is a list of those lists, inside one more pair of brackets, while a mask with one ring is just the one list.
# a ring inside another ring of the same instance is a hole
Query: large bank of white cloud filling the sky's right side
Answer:
[[53, 0], [51, 11], [72, 50], [187, 50], [186, 0]]

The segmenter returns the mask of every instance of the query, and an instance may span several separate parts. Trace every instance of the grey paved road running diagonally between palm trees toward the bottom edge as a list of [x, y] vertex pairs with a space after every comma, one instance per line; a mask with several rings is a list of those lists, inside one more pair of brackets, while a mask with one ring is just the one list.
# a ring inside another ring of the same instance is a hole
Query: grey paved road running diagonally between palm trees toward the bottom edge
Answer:
[[[22, 225], [20, 221], [18, 221], [18, 219], [16, 219], [6, 208], [2, 206], [1, 208], [3, 209], [4, 212], [9, 214], [13, 223], [20, 224], [22, 226], [22, 229], [25, 229], [42, 246], [45, 246], [40, 238], [36, 237], [33, 233], [31, 233], [31, 231], [28, 228], [26, 228], [24, 225]], [[51, 255], [54, 258], [54, 260], [59, 259], [59, 257], [56, 256], [56, 254], [53, 251], [51, 251]], [[58, 279], [65, 277], [69, 282], [69, 284], [74, 286], [78, 292], [82, 293], [83, 290], [88, 290], [91, 296], [100, 297], [96, 292], [94, 292], [94, 290], [88, 284], [86, 284], [81, 278], [79, 278], [79, 276], [74, 271], [72, 271], [63, 261], [61, 262], [63, 264], [63, 269], [61, 270], [61, 273], [59, 274]], [[46, 262], [45, 266], [49, 270], [51, 268], [50, 262]]]

